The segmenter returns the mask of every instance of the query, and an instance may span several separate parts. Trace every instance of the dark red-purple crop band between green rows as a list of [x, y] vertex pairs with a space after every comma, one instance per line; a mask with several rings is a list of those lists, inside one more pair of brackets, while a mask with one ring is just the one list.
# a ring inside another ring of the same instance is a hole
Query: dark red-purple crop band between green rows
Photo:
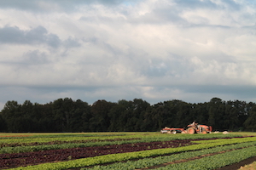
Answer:
[[0, 167], [20, 167], [38, 164], [46, 161], [67, 161], [84, 157], [102, 156], [108, 154], [133, 152], [139, 150], [153, 150], [160, 148], [190, 145], [191, 140], [172, 140], [166, 142], [150, 142], [136, 144], [114, 144], [65, 150], [42, 150], [27, 153], [1, 154]]

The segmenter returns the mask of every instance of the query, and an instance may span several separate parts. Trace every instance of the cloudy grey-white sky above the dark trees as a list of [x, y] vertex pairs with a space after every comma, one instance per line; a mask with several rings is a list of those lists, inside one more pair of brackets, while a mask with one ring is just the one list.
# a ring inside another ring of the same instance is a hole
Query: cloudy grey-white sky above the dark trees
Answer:
[[251, 0], [0, 0], [9, 100], [256, 102]]

